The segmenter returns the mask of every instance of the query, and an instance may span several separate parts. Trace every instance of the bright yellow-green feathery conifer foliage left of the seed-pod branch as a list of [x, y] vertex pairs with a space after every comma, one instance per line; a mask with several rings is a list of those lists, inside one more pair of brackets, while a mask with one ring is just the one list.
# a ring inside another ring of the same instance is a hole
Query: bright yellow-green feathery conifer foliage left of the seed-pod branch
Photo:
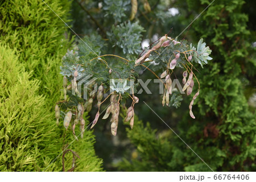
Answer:
[[[47, 4], [67, 18], [69, 1]], [[61, 93], [61, 57], [70, 46], [65, 37], [67, 27], [36, 0], [1, 2], [0, 19], [0, 170], [43, 171], [74, 139], [56, 126], [52, 113]], [[88, 119], [84, 119], [86, 127]], [[89, 131], [69, 146], [80, 157], [74, 171], [102, 170], [93, 143]], [[72, 160], [72, 155], [65, 154], [65, 171], [73, 167]], [[60, 155], [46, 171], [62, 168]]]

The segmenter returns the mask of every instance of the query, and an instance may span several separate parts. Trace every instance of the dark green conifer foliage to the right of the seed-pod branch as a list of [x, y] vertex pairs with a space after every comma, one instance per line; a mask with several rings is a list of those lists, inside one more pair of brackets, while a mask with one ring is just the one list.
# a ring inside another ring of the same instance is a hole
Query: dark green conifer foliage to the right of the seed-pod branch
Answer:
[[[192, 0], [187, 2], [193, 13], [194, 10], [203, 11], [212, 1], [202, 0], [204, 6]], [[194, 108], [199, 117], [192, 121], [183, 114], [177, 129], [179, 136], [214, 171], [255, 171], [256, 115], [250, 111], [244, 91], [248, 80], [253, 80], [256, 61], [250, 31], [246, 27], [248, 16], [241, 11], [243, 3], [239, 0], [215, 1], [200, 16], [201, 20], [193, 24], [194, 34], [211, 43], [213, 61], [207, 68], [199, 69], [201, 91]], [[193, 28], [189, 32], [193, 33]], [[141, 126], [130, 131], [128, 136], [137, 148], [138, 157], [123, 160], [119, 167], [126, 171], [162, 171], [165, 167], [164, 170], [170, 171], [211, 171], [174, 134], [168, 144], [160, 137], [152, 137], [154, 134], [148, 127]], [[144, 138], [136, 139], [135, 136]], [[148, 162], [154, 160], [154, 146], [158, 146], [159, 151], [164, 146], [170, 149], [155, 156], [159, 166]], [[167, 154], [170, 156], [166, 157]], [[168, 165], [161, 165], [162, 160]]]

